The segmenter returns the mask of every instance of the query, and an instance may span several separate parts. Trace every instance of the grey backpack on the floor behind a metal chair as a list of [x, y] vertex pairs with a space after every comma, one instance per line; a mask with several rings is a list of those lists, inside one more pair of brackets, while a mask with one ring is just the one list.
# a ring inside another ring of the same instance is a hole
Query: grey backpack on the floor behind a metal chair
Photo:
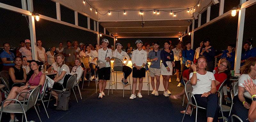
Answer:
[[68, 103], [70, 97], [70, 91], [57, 92], [58, 93], [58, 103], [56, 110], [68, 111]]

